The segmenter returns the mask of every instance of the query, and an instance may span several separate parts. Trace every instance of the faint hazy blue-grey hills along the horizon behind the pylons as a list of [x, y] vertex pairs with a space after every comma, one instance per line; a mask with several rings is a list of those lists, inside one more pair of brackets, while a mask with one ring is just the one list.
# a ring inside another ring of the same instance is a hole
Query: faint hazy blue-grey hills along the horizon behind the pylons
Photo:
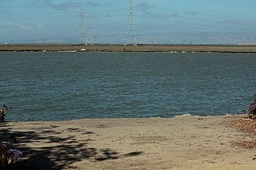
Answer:
[[[125, 36], [94, 35], [94, 44], [123, 44]], [[249, 33], [166, 33], [166, 34], [138, 34], [138, 44], [187, 44], [187, 45], [256, 45], [256, 32]], [[4, 43], [18, 44], [76, 44], [77, 38], [52, 38], [5, 41]]]

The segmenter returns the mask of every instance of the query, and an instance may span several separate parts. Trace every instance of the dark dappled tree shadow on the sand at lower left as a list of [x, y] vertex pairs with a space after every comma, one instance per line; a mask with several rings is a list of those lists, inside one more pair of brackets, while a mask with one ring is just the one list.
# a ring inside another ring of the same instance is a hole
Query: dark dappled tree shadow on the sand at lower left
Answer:
[[[58, 126], [44, 128], [42, 131], [18, 131], [14, 132], [10, 126], [0, 126], [0, 139], [7, 141], [10, 136], [15, 136], [17, 144], [11, 148], [18, 149], [23, 153], [18, 163], [12, 164], [11, 169], [66, 169], [75, 162], [93, 159], [94, 161], [114, 160], [122, 157], [138, 156], [142, 152], [130, 152], [120, 154], [113, 149], [90, 148], [90, 135], [94, 132], [81, 132], [77, 128], [67, 128], [69, 136], [61, 135], [62, 132], [53, 130]], [[75, 134], [86, 135], [83, 139], [76, 139]], [[37, 147], [42, 144], [44, 147]]]

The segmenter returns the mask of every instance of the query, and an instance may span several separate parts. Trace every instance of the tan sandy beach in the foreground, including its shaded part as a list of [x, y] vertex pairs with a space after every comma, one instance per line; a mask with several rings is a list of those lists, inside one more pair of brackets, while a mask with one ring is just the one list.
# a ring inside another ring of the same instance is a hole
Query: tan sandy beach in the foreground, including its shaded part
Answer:
[[6, 122], [0, 134], [23, 153], [14, 169], [254, 169], [244, 117]]

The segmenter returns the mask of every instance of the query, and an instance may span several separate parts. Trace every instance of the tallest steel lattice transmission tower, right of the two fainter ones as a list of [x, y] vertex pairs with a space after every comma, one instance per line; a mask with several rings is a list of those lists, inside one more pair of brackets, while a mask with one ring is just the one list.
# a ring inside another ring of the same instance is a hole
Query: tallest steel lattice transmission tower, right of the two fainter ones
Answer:
[[133, 0], [130, 0], [130, 11], [129, 11], [127, 31], [126, 31], [125, 45], [137, 45], [135, 30], [134, 30], [134, 19], [133, 19]]

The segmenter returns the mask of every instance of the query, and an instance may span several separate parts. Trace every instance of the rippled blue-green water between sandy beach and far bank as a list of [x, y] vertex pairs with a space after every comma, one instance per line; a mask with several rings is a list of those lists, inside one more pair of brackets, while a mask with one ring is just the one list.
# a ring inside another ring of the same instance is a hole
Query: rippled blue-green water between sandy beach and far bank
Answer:
[[242, 113], [256, 91], [256, 55], [0, 53], [6, 121]]

